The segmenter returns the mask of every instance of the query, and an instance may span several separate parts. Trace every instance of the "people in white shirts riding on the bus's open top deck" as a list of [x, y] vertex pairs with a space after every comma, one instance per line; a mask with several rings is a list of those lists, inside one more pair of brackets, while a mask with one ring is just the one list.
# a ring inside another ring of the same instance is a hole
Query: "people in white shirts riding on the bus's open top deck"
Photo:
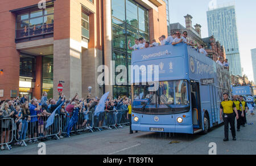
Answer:
[[[133, 46], [130, 46], [130, 40], [128, 42], [128, 47], [131, 50], [139, 50], [139, 49], [145, 49], [145, 48], [150, 48], [154, 46], [159, 46], [159, 45], [176, 45], [179, 43], [186, 43], [187, 45], [192, 46], [192, 48], [196, 49], [199, 53], [205, 54], [205, 56], [208, 55], [208, 53], [204, 49], [204, 45], [198, 45], [195, 44], [193, 41], [188, 41], [187, 40], [188, 32], [184, 31], [183, 36], [181, 36], [181, 33], [179, 31], [175, 32], [173, 35], [168, 36], [166, 38], [165, 35], [162, 35], [159, 37], [160, 43], [156, 42], [155, 39], [152, 40], [151, 44], [150, 42], [144, 40], [142, 37], [140, 39], [135, 39], [134, 42], [135, 44]], [[223, 66], [225, 69], [229, 70], [229, 63], [228, 59], [223, 59], [222, 57], [218, 57], [218, 60], [216, 61], [219, 65]]]

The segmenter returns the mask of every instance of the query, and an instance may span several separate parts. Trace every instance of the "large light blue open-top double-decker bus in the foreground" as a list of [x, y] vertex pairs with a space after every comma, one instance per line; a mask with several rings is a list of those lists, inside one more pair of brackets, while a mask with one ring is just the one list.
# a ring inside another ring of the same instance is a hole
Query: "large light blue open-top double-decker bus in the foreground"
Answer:
[[[135, 50], [131, 65], [133, 130], [207, 133], [223, 122], [220, 103], [231, 92], [229, 72], [196, 49], [177, 44]], [[154, 78], [157, 68], [158, 81], [149, 83], [147, 73]]]

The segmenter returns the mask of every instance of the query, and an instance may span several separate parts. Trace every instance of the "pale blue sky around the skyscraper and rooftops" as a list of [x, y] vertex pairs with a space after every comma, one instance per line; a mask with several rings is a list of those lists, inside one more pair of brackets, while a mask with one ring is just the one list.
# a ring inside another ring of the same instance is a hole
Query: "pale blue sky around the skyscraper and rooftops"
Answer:
[[[185, 27], [183, 16], [193, 16], [192, 25], [200, 24], [201, 36], [208, 37], [207, 10], [211, 0], [169, 0], [170, 22], [181, 23]], [[217, 4], [236, 3], [237, 32], [243, 73], [253, 80], [251, 49], [256, 48], [256, 1], [255, 0], [217, 0]], [[256, 64], [255, 64], [256, 65]], [[256, 82], [256, 80], [255, 80]]]

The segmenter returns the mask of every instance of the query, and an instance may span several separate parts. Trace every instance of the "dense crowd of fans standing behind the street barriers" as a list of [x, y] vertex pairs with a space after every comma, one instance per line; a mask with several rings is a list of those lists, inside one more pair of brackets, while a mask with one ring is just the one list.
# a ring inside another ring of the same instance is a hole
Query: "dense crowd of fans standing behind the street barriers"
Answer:
[[[26, 140], [28, 143], [36, 143], [49, 139], [57, 139], [56, 135], [51, 135], [51, 133], [54, 132], [59, 133], [59, 138], [70, 137], [72, 129], [75, 131], [75, 134], [80, 134], [76, 131], [76, 129], [78, 129], [76, 125], [78, 117], [82, 117], [80, 124], [82, 129], [88, 131], [96, 130], [93, 129], [92, 123], [88, 117], [89, 112], [91, 112], [90, 116], [93, 116], [96, 120], [94, 123], [97, 123], [96, 126], [98, 130], [112, 129], [114, 126], [106, 127], [108, 124], [105, 124], [104, 118], [100, 117], [99, 113], [94, 114], [99, 102], [100, 99], [98, 97], [90, 97], [90, 95], [88, 95], [86, 99], [79, 99], [77, 93], [71, 100], [66, 100], [64, 94], [61, 93], [59, 99], [56, 101], [54, 99], [48, 99], [47, 92], [43, 93], [42, 99], [40, 100], [35, 99], [35, 97], [32, 100], [28, 100], [28, 96], [26, 95], [21, 99], [16, 97], [11, 100], [0, 100], [1, 150], [8, 148], [7, 146], [4, 147], [4, 144], [11, 141], [12, 130], [16, 130], [14, 133], [16, 133], [16, 138], [18, 138], [19, 141], [13, 139], [11, 144], [20, 146], [24, 146], [23, 140]], [[118, 110], [127, 110], [130, 104], [131, 100], [126, 96], [119, 96], [117, 99], [108, 97], [105, 101], [105, 108], [101, 112], [109, 113], [111, 111], [118, 112]], [[51, 116], [55, 110], [55, 114], [59, 114], [59, 117], [62, 117], [62, 130], [58, 127], [58, 120], [56, 119], [53, 123], [53, 127], [46, 129], [47, 118]], [[128, 114], [122, 113], [122, 117], [127, 119]], [[14, 125], [11, 123], [10, 119], [13, 119]], [[102, 125], [105, 127], [102, 127]], [[122, 125], [115, 124], [115, 127], [122, 127]], [[51, 137], [47, 135], [51, 135]], [[8, 146], [9, 149], [12, 148], [10, 144]]]

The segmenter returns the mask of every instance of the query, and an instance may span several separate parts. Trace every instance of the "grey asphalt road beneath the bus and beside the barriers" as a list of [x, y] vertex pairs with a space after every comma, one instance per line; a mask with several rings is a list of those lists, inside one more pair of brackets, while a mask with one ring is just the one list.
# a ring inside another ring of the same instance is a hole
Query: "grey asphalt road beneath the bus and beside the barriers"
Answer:
[[[237, 141], [224, 142], [224, 125], [214, 127], [208, 134], [129, 133], [129, 127], [84, 133], [71, 138], [47, 141], [47, 155], [208, 155], [209, 143], [217, 145], [218, 155], [256, 154], [256, 118], [247, 113], [246, 127], [236, 132]], [[253, 124], [251, 124], [253, 123]], [[251, 125], [250, 125], [251, 124]], [[229, 138], [232, 138], [231, 132]], [[37, 155], [38, 144], [14, 146], [0, 155]]]

